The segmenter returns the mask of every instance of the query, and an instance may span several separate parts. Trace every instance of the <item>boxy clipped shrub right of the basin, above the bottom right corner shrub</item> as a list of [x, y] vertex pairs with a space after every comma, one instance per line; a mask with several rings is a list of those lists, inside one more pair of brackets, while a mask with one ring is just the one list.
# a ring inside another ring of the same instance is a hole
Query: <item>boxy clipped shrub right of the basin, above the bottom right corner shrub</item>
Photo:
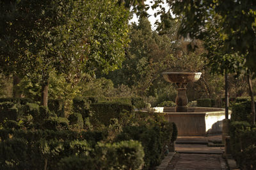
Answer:
[[244, 102], [232, 104], [231, 121], [251, 121], [251, 102], [246, 100]]

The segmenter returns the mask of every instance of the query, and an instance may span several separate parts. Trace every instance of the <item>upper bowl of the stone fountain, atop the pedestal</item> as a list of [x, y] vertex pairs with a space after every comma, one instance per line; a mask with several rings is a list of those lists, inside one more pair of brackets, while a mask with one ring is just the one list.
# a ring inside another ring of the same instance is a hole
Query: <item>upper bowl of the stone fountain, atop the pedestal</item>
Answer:
[[165, 81], [168, 82], [196, 82], [200, 79], [201, 72], [163, 72]]

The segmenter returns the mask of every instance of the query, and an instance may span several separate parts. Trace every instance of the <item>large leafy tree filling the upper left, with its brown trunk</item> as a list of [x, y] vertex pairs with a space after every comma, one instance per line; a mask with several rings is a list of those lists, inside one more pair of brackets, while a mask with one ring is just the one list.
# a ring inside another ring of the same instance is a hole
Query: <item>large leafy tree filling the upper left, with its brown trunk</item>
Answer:
[[124, 60], [129, 12], [116, 0], [1, 1], [0, 60], [6, 74], [115, 70]]

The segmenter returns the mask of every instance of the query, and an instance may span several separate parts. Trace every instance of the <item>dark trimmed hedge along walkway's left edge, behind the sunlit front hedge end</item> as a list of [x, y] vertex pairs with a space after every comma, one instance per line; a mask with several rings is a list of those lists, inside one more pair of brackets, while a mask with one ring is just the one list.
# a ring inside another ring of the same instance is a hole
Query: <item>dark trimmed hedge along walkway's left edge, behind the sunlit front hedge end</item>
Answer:
[[154, 169], [161, 163], [164, 147], [177, 138], [177, 127], [174, 123], [162, 123], [161, 126], [127, 126], [116, 137], [116, 141], [133, 139], [140, 141], [145, 152], [143, 169]]

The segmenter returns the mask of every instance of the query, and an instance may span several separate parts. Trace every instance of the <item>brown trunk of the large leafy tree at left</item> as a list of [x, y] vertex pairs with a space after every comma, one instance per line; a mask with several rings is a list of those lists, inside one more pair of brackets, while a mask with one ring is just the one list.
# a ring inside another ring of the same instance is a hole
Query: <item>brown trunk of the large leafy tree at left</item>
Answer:
[[49, 87], [49, 73], [42, 73], [42, 89], [41, 89], [41, 105], [47, 107], [48, 104], [48, 87]]

